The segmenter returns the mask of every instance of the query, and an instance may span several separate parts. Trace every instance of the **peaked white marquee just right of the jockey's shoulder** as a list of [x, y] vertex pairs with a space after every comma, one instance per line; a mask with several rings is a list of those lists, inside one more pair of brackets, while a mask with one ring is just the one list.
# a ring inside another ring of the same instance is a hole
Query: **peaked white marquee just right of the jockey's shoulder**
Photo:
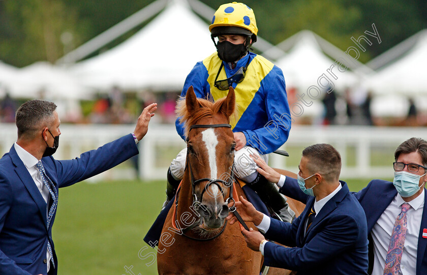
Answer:
[[[351, 64], [354, 67], [348, 68], [345, 72], [340, 72], [338, 65], [331, 69], [336, 59], [330, 58], [325, 52], [328, 52], [333, 58], [344, 58], [346, 62], [349, 57], [310, 30], [302, 30], [276, 47], [287, 50], [287, 54], [278, 59], [276, 65], [283, 71], [286, 87], [297, 88], [299, 95], [303, 93], [307, 95], [307, 90], [312, 85], [322, 90], [323, 88], [318, 84], [318, 79], [322, 74], [325, 74], [333, 83], [335, 93], [344, 94], [347, 87], [356, 85], [363, 78], [365, 71], [370, 71], [358, 62], [354, 62], [356, 66]], [[350, 67], [350, 62], [348, 64]], [[328, 69], [337, 79], [328, 73]], [[323, 78], [321, 83], [326, 85], [328, 81]], [[303, 114], [321, 115], [323, 106], [320, 100], [322, 98], [323, 95], [320, 95], [318, 100], [313, 101], [313, 105], [304, 108]], [[306, 99], [310, 101], [308, 97]]]

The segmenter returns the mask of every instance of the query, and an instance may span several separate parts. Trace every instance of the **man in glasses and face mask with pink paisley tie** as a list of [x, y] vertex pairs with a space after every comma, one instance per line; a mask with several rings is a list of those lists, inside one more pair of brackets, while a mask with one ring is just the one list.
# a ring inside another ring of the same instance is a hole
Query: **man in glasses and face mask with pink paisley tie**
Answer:
[[[400, 266], [396, 274], [427, 274], [427, 141], [410, 138], [394, 152], [393, 182], [374, 179], [368, 186], [353, 193], [359, 200], [367, 217], [369, 232], [369, 274], [383, 275], [389, 246], [395, 237], [393, 228], [402, 205], [409, 203], [406, 212], [407, 230], [403, 250], [399, 257]], [[298, 185], [286, 181], [281, 188], [283, 194], [307, 202], [309, 196], [302, 193]], [[391, 240], [391, 241], [390, 241]], [[391, 256], [396, 253], [391, 253]], [[390, 257], [393, 263], [393, 257]], [[388, 261], [390, 263], [390, 261]]]

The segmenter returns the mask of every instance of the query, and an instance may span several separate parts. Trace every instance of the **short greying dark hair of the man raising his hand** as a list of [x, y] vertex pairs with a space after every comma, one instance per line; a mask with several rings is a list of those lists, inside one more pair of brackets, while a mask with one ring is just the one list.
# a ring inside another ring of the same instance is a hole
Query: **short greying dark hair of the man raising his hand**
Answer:
[[36, 131], [49, 124], [53, 120], [53, 112], [56, 105], [45, 100], [29, 100], [22, 104], [16, 111], [16, 127], [18, 128], [18, 138], [25, 135], [27, 138], [34, 138]]

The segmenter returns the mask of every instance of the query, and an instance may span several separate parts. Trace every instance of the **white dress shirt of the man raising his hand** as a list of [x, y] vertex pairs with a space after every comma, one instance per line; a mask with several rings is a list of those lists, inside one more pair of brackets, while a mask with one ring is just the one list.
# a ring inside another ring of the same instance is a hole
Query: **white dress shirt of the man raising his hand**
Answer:
[[[37, 160], [36, 157], [34, 157], [33, 155], [29, 154], [29, 152], [25, 151], [25, 149], [19, 146], [16, 142], [14, 144], [14, 147], [16, 150], [16, 154], [18, 154], [18, 157], [24, 163], [26, 169], [28, 170], [29, 175], [31, 175], [31, 177], [33, 178], [34, 183], [37, 186], [37, 189], [39, 189], [40, 194], [42, 195], [44, 201], [46, 202], [46, 218], [47, 218], [50, 194], [49, 194], [49, 190], [47, 190], [47, 187], [43, 183], [42, 176], [40, 175], [39, 170], [36, 168], [36, 164], [39, 162], [39, 160]], [[50, 258], [51, 258], [51, 255], [49, 253], [49, 250], [47, 250], [47, 253], [46, 253], [47, 271], [49, 271], [49, 267], [50, 267]]]

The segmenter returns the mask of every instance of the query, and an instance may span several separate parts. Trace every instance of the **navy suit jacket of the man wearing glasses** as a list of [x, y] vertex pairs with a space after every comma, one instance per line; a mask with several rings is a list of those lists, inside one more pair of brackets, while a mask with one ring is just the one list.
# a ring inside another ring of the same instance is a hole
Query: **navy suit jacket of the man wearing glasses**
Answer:
[[[397, 194], [398, 191], [392, 182], [382, 179], [374, 179], [369, 182], [367, 187], [354, 193], [366, 213], [368, 232], [371, 232], [384, 210]], [[394, 223], [394, 221], [392, 222]], [[418, 237], [416, 275], [427, 274], [427, 238], [422, 237], [422, 231], [425, 228], [427, 228], [427, 190], [424, 189], [424, 209], [422, 210]], [[373, 262], [371, 264], [373, 265]]]

